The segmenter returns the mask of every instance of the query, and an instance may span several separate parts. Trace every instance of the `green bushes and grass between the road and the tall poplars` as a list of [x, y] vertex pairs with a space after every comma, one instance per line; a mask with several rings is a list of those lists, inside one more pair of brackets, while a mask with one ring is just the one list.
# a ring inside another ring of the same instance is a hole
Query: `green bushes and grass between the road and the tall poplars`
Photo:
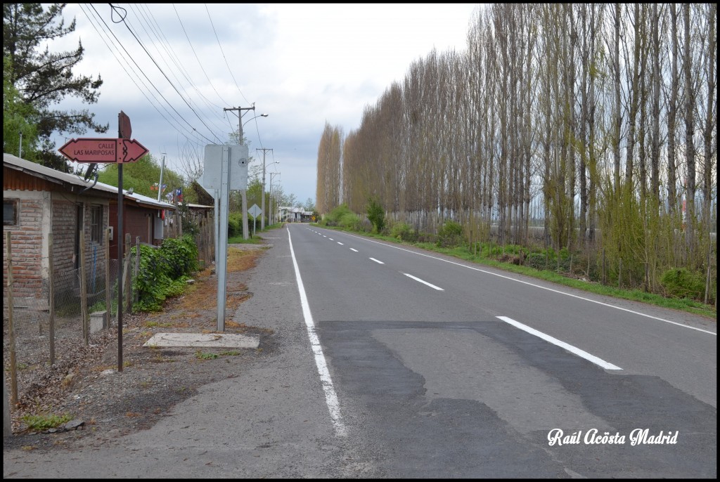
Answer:
[[[368, 207], [372, 207], [372, 202], [368, 203]], [[590, 293], [642, 301], [704, 317], [717, 317], [716, 306], [703, 303], [705, 278], [701, 273], [691, 272], [685, 268], [665, 270], [661, 278], [662, 293], [651, 293], [642, 288], [628, 289], [618, 286], [618, 279], [611, 278], [608, 273], [603, 279], [602, 260], [588, 260], [582, 250], [570, 251], [567, 247], [554, 250], [552, 247], [542, 246], [501, 245], [492, 241], [469, 242], [462, 225], [452, 220], [447, 220], [438, 229], [438, 233], [433, 234], [419, 232], [405, 222], [384, 219], [382, 229], [378, 232], [377, 222], [371, 222], [369, 216], [368, 219], [363, 219], [359, 214], [351, 212], [346, 204], [341, 204], [315, 225], [419, 247]], [[714, 292], [711, 299], [715, 300]]]

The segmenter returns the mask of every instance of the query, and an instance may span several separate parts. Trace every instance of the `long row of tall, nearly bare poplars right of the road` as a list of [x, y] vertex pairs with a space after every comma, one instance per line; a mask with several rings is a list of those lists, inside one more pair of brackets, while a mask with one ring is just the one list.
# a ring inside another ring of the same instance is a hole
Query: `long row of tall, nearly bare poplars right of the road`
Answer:
[[318, 212], [378, 199], [655, 291], [716, 259], [715, 58], [715, 4], [482, 5], [467, 50], [416, 60], [344, 138], [325, 126]]

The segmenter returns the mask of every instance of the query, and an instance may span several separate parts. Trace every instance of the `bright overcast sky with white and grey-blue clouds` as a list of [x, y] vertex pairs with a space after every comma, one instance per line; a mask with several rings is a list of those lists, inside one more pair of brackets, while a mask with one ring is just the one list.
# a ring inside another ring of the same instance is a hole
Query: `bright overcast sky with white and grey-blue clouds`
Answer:
[[[182, 156], [202, 158], [205, 145], [237, 129], [238, 111], [223, 109], [254, 103], [242, 111], [251, 166], [262, 165], [257, 149], [271, 149], [266, 173], [281, 173], [273, 182], [305, 202], [315, 200], [325, 122], [347, 135], [410, 63], [433, 47], [464, 51], [479, 4], [113, 5], [68, 4], [63, 17], [76, 19], [76, 31], [50, 45], [68, 50], [81, 40], [73, 72], [104, 81], [88, 107], [109, 132], [71, 137], [116, 137], [122, 110], [132, 137], [182, 173]], [[259, 114], [269, 116], [253, 119]], [[56, 140], [60, 147], [66, 137]]]

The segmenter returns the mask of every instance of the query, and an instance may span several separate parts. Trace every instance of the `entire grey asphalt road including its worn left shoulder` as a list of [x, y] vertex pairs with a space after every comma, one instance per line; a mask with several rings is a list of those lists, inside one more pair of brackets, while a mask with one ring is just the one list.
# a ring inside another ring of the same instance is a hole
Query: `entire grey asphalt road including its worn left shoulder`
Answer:
[[235, 319], [274, 355], [143, 432], [4, 450], [4, 478], [716, 478], [714, 320], [307, 224], [269, 237]]

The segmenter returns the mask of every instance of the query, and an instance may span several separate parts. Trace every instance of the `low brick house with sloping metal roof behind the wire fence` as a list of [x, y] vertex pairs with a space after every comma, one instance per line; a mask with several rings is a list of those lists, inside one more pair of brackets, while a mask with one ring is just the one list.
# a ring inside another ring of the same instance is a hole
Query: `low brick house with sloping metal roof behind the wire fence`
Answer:
[[[127, 191], [123, 199], [124, 232], [131, 236], [136, 232], [145, 241], [161, 235], [162, 230], [150, 231], [148, 235], [148, 224], [153, 224], [148, 223], [148, 217], [174, 206]], [[76, 291], [80, 240], [85, 242], [85, 265], [105, 266], [105, 229], [113, 221], [117, 231], [117, 187], [84, 181], [75, 174], [4, 153], [3, 286], [7, 286], [6, 232], [9, 232], [14, 296], [48, 300], [50, 233], [55, 292], [62, 298]], [[114, 241], [117, 243], [117, 236]], [[111, 242], [110, 253], [111, 258], [117, 258], [117, 244], [113, 251]]]

